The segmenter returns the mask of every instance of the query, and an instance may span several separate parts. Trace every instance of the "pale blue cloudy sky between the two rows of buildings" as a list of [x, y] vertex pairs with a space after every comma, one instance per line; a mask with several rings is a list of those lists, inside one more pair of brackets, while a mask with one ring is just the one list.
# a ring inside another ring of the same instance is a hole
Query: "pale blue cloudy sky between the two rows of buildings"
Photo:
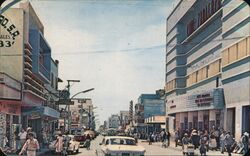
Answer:
[[174, 0], [31, 0], [59, 60], [63, 89], [91, 98], [103, 123], [165, 84], [166, 18]]

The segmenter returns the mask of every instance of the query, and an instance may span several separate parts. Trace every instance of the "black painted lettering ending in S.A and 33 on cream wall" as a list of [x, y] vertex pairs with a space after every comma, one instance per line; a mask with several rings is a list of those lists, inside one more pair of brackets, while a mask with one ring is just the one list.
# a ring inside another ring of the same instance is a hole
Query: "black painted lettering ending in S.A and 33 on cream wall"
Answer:
[[16, 26], [3, 15], [0, 15], [0, 26], [7, 32], [7, 34], [0, 34], [0, 47], [11, 47], [15, 43], [16, 37], [20, 35], [20, 32]]

